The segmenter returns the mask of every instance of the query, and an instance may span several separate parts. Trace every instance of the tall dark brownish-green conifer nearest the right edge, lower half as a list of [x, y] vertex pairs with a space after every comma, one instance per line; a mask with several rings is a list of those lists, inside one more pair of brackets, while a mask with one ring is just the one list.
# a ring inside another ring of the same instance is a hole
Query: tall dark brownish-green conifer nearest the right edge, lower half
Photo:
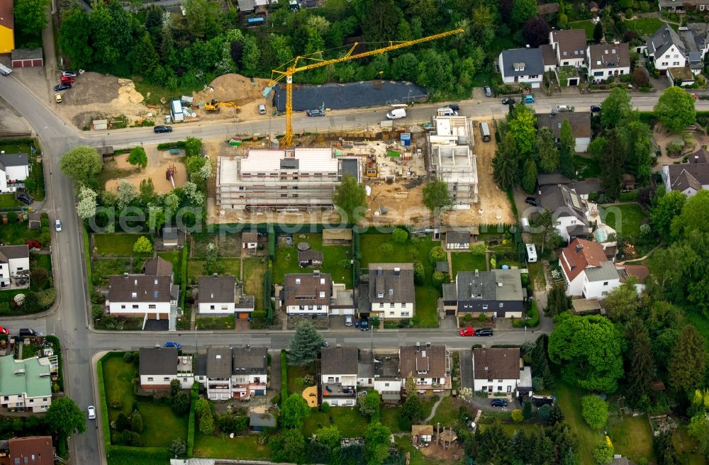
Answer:
[[693, 325], [685, 325], [669, 355], [669, 383], [677, 391], [693, 392], [702, 385], [707, 352], [704, 340]]

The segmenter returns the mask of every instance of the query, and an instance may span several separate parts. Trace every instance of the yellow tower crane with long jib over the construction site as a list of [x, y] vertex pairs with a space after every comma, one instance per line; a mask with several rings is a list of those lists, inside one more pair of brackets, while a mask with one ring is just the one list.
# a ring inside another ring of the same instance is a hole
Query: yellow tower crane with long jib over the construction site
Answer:
[[[379, 55], [381, 53], [391, 52], [391, 50], [398, 50], [398, 49], [404, 48], [404, 47], [411, 47], [411, 45], [416, 45], [416, 44], [428, 42], [430, 40], [437, 40], [440, 38], [447, 37], [449, 35], [459, 34], [462, 32], [464, 32], [463, 29], [447, 30], [444, 33], [428, 35], [427, 37], [423, 37], [423, 38], [415, 39], [415, 40], [406, 40], [405, 42], [400, 42], [400, 43], [391, 43], [391, 45], [389, 45], [388, 47], [382, 47], [382, 48], [378, 48], [376, 50], [369, 50], [368, 52], [356, 53], [356, 54], [352, 55], [352, 52], [354, 52], [354, 49], [357, 47], [357, 45], [359, 45], [359, 43], [355, 42], [354, 45], [352, 45], [352, 47], [350, 48], [350, 50], [347, 52], [347, 54], [343, 57], [333, 58], [332, 60], [319, 60], [318, 58], [313, 58], [313, 55], [319, 54], [319, 52], [318, 52], [318, 53], [314, 53], [311, 55], [295, 57], [289, 63], [284, 65], [284, 66], [286, 66], [285, 70], [283, 70], [283, 69], [272, 70], [271, 82], [269, 82], [269, 84], [268, 84], [269, 86], [274, 86], [275, 84], [280, 82], [284, 77], [286, 78], [286, 135], [284, 135], [284, 138], [281, 140], [281, 145], [284, 147], [291, 147], [291, 145], [293, 145], [293, 75], [296, 74], [297, 72], [306, 71], [308, 69], [320, 68], [320, 67], [328, 66], [328, 65], [335, 65], [335, 63], [342, 63], [342, 62], [347, 62], [350, 60], [357, 60], [359, 58], [371, 57], [373, 55]], [[318, 60], [318, 61], [314, 62], [314, 63], [310, 63], [308, 65], [298, 66], [299, 60]]]

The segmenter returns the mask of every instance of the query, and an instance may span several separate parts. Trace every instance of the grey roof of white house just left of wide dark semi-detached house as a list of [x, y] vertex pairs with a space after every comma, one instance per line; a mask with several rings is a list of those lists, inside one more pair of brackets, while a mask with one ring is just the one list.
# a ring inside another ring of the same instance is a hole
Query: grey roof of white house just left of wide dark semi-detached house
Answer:
[[369, 301], [415, 302], [413, 263], [370, 263]]

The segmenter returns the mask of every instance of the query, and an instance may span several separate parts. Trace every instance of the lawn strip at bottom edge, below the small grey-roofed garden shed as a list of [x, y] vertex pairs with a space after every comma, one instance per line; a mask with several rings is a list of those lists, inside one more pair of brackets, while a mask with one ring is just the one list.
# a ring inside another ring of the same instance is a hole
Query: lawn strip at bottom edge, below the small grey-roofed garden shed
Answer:
[[263, 459], [271, 457], [268, 444], [259, 444], [260, 436], [203, 435], [199, 430], [194, 437], [194, 456], [210, 459]]

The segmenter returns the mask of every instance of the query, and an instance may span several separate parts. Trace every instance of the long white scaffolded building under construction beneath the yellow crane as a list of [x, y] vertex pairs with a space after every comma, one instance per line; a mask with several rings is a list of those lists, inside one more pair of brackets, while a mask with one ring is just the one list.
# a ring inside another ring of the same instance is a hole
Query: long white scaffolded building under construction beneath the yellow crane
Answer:
[[249, 150], [218, 158], [216, 203], [221, 210], [333, 208], [344, 174], [361, 181], [359, 159], [330, 148]]

